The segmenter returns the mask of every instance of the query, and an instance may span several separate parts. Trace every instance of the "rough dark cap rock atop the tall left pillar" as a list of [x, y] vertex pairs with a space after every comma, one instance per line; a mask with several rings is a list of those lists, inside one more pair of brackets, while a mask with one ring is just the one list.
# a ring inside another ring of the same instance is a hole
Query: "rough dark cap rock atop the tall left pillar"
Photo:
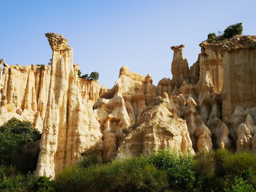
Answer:
[[57, 33], [46, 33], [49, 44], [53, 51], [70, 50], [72, 49], [68, 45], [68, 39], [63, 38], [63, 35]]

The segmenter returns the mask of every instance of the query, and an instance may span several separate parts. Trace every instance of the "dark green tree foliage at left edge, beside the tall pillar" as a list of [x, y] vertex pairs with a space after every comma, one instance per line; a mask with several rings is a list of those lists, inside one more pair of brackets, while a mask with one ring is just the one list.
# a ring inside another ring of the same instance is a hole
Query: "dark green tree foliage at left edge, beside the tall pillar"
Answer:
[[33, 129], [31, 122], [10, 119], [0, 126], [0, 163], [9, 165], [14, 148], [40, 138], [41, 134]]

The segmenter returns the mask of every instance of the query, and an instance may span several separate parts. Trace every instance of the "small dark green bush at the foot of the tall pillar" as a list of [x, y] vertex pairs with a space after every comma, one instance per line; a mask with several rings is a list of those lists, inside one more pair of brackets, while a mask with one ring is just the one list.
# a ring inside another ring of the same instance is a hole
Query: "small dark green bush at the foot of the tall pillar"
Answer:
[[50, 181], [49, 177], [41, 176], [34, 183], [32, 190], [36, 192], [56, 192], [55, 181]]

